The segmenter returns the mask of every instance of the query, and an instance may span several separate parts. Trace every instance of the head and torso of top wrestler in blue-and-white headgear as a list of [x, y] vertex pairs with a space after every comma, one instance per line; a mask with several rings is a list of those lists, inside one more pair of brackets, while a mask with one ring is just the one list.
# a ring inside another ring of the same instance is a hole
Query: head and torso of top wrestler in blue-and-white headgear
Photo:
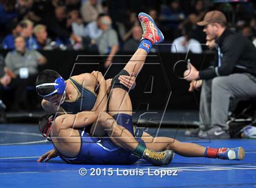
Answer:
[[[75, 78], [79, 79], [79, 81]], [[42, 101], [43, 109], [46, 110], [45, 106], [51, 106], [54, 109], [50, 110], [51, 113], [57, 112], [56, 109], [59, 106], [68, 113], [93, 109], [96, 93], [94, 93], [95, 84], [90, 85], [90, 83], [87, 83], [90, 82], [90, 79], [95, 80], [95, 77], [90, 73], [84, 73], [65, 81], [55, 70], [43, 70], [37, 76], [36, 81], [37, 93], [44, 99]], [[77, 97], [70, 98], [69, 96]], [[43, 105], [45, 103], [47, 105]], [[49, 110], [46, 111], [49, 112]]]

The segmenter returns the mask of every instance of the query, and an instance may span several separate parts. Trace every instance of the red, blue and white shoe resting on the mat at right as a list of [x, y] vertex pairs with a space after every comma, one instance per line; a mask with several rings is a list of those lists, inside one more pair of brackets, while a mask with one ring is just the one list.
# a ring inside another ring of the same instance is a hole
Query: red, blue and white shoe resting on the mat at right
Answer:
[[235, 148], [219, 148], [217, 153], [217, 158], [219, 159], [227, 159], [227, 160], [243, 160], [245, 155], [243, 147], [235, 147]]

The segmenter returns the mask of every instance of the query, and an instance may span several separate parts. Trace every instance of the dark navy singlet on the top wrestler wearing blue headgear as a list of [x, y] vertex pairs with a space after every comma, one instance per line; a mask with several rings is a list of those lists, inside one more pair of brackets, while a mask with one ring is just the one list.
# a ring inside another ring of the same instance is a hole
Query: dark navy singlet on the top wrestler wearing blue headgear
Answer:
[[66, 112], [76, 114], [78, 112], [82, 111], [90, 111], [93, 109], [93, 106], [96, 101], [96, 94], [91, 92], [90, 90], [84, 88], [79, 84], [77, 81], [75, 81], [73, 78], [69, 78], [69, 81], [73, 86], [77, 89], [77, 91], [80, 93], [80, 97], [74, 101], [74, 102], [63, 102], [62, 105], [60, 105]]

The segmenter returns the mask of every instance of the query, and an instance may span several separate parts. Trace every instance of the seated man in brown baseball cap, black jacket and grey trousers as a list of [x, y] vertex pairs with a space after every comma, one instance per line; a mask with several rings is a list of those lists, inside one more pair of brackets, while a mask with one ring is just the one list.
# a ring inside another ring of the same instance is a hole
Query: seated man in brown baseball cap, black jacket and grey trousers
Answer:
[[197, 25], [204, 26], [207, 41], [215, 41], [217, 58], [205, 70], [198, 71], [190, 64], [190, 69], [184, 72], [187, 81], [191, 81], [190, 91], [202, 86], [201, 126], [185, 135], [230, 138], [230, 99], [256, 96], [256, 49], [249, 39], [227, 28], [226, 16], [218, 10], [207, 12]]

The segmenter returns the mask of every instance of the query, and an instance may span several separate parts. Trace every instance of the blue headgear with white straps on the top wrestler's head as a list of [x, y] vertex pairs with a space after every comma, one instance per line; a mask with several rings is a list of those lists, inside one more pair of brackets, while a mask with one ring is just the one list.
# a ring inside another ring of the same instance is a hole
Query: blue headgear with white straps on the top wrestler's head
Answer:
[[[44, 87], [44, 86], [54, 86], [54, 91], [47, 94], [47, 95], [41, 95], [39, 92], [38, 92], [38, 87]], [[37, 93], [38, 95], [40, 96], [43, 96], [43, 97], [46, 97], [46, 96], [51, 96], [53, 95], [54, 93], [57, 93], [59, 95], [62, 95], [64, 92], [65, 92], [65, 89], [66, 89], [66, 83], [65, 83], [65, 80], [62, 78], [62, 77], [59, 77], [57, 79], [55, 79], [54, 83], [44, 83], [44, 84], [39, 84], [35, 87], [35, 89], [37, 90]]]

